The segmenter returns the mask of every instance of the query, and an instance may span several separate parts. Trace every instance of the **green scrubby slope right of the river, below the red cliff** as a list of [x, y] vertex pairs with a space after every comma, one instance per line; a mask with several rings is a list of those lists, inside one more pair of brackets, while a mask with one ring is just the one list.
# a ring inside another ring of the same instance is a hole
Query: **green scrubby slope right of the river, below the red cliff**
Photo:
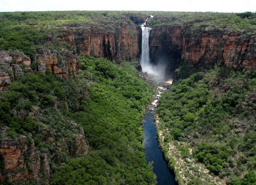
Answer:
[[219, 63], [176, 80], [157, 109], [164, 145], [176, 145], [184, 159], [203, 163], [227, 184], [255, 184], [255, 77]]

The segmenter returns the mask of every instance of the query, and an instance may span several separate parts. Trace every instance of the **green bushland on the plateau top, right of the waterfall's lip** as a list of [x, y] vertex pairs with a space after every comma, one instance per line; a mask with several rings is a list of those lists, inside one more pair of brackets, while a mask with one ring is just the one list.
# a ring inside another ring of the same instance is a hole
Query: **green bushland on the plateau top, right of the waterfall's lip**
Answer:
[[[154, 13], [152, 13], [155, 15]], [[256, 13], [218, 13], [218, 12], [159, 12], [148, 21], [149, 25], [184, 25], [193, 31], [243, 30], [255, 32]]]

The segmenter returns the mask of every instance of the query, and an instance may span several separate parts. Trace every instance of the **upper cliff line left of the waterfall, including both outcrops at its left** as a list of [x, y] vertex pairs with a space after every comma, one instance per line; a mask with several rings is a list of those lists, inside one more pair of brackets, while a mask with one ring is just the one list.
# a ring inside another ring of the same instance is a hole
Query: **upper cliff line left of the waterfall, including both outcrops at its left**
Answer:
[[[77, 55], [91, 55], [106, 57], [109, 60], [131, 60], [137, 58], [140, 53], [141, 29], [138, 25], [119, 23], [116, 28], [108, 25], [65, 25], [58, 35], [48, 34], [46, 44], [66, 42], [69, 47], [47, 49], [43, 46], [37, 48], [33, 61], [36, 69], [45, 74], [46, 69], [54, 74], [68, 78], [68, 74], [76, 74], [80, 68]], [[10, 81], [14, 81], [15, 74], [18, 77], [24, 75], [24, 68], [29, 73], [31, 59], [18, 50], [0, 51], [0, 64], [5, 68], [0, 75], [0, 90], [8, 88]]]

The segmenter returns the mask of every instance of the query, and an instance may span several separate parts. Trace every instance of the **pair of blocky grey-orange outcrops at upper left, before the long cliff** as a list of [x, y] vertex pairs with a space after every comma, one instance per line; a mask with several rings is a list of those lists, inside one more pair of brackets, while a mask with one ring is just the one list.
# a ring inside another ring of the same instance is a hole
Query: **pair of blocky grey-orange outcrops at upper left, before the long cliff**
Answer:
[[[46, 69], [54, 74], [68, 78], [68, 74], [76, 74], [80, 68], [80, 61], [73, 51], [67, 49], [49, 50], [39, 48], [34, 56], [33, 62], [37, 71], [44, 73]], [[31, 59], [18, 50], [0, 51], [0, 91], [8, 89], [9, 84], [14, 81], [15, 76], [22, 77], [24, 72], [33, 73]], [[25, 71], [24, 71], [25, 70]]]

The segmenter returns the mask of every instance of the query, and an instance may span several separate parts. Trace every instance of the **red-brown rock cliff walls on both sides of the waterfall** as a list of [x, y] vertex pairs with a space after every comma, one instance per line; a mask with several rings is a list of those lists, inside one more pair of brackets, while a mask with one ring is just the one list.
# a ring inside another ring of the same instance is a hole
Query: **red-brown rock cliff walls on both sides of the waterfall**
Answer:
[[[126, 17], [137, 24], [146, 18], [139, 15]], [[168, 62], [169, 70], [178, 67], [180, 59], [187, 60], [194, 66], [224, 62], [227, 66], [236, 68], [256, 69], [254, 36], [243, 31], [225, 29], [191, 31], [192, 25], [153, 25], [150, 34], [152, 61], [157, 63], [164, 59]], [[32, 61], [36, 63], [37, 71], [45, 73], [48, 69], [58, 76], [68, 78], [69, 73], [76, 74], [80, 68], [77, 55], [81, 53], [106, 57], [109, 60], [131, 60], [138, 58], [141, 53], [141, 28], [132, 22], [119, 22], [116, 26], [79, 23], [63, 25], [60, 32], [55, 35], [48, 34], [45, 41], [51, 45], [56, 39], [67, 42], [69, 49], [38, 47]], [[10, 82], [14, 81], [15, 74], [23, 76], [20, 65], [32, 73], [30, 58], [18, 50], [1, 51], [0, 64], [5, 67], [5, 70], [2, 68], [0, 72], [0, 91], [8, 88]]]

